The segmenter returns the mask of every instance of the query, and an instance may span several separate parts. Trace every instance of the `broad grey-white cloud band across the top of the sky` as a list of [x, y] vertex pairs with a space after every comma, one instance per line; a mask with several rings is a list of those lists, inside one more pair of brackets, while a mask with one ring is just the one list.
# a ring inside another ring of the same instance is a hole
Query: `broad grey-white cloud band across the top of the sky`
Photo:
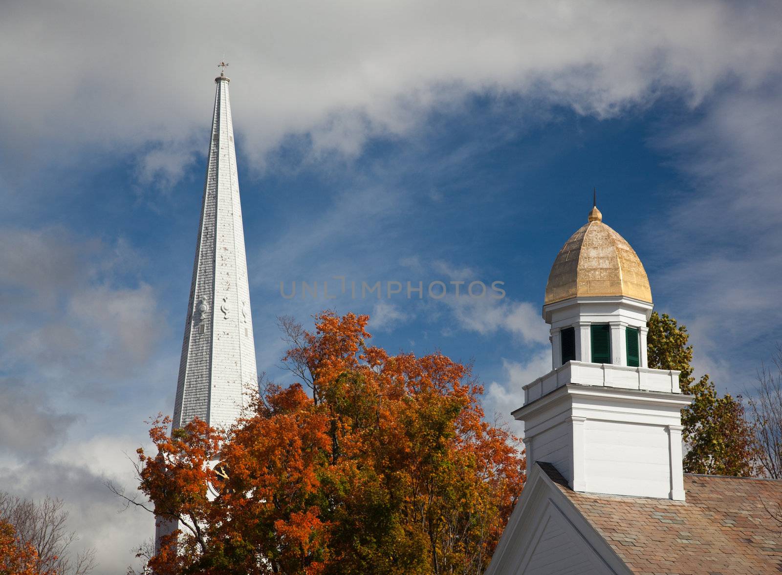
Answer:
[[[536, 95], [599, 117], [670, 91], [693, 105], [780, 66], [780, 5], [734, 2], [11, 2], [0, 23], [8, 161], [77, 148], [142, 150], [142, 177], [178, 177], [203, 139], [210, 80], [231, 60], [243, 149], [285, 134], [355, 155], [473, 91]], [[185, 150], [185, 152], [183, 152]], [[37, 153], [33, 153], [33, 151]]]

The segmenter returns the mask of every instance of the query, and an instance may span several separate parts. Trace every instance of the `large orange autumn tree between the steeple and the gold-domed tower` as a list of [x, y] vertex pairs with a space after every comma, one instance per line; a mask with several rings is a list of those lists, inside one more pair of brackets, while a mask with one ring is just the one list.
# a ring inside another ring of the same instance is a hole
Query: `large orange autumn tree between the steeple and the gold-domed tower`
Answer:
[[486, 569], [522, 491], [521, 443], [483, 419], [469, 366], [389, 355], [368, 345], [367, 323], [321, 313], [309, 333], [282, 320], [299, 381], [264, 384], [225, 433], [153, 423], [140, 489], [184, 520], [156, 573]]

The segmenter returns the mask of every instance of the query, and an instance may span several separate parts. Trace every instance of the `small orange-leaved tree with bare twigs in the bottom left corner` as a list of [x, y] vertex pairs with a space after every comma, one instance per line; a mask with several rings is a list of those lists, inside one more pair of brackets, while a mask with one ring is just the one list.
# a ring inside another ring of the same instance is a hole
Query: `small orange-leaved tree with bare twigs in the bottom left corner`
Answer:
[[26, 555], [34, 558], [30, 559], [33, 573], [86, 575], [95, 568], [94, 549], [72, 553], [78, 537], [67, 527], [68, 515], [62, 499], [34, 502], [0, 492], [0, 522], [13, 527], [17, 548], [23, 553], [34, 551]]

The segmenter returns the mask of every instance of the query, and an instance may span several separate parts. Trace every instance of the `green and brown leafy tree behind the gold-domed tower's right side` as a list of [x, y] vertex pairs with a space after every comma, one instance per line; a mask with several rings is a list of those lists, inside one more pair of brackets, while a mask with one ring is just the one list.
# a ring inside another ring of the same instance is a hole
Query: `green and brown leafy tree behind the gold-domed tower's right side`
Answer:
[[667, 314], [653, 312], [649, 319], [648, 364], [659, 370], [679, 370], [682, 393], [693, 396], [682, 409], [682, 438], [687, 446], [687, 473], [753, 476], [756, 448], [753, 427], [745, 417], [741, 396], [719, 396], [714, 382], [703, 375], [693, 377], [692, 345], [687, 327]]

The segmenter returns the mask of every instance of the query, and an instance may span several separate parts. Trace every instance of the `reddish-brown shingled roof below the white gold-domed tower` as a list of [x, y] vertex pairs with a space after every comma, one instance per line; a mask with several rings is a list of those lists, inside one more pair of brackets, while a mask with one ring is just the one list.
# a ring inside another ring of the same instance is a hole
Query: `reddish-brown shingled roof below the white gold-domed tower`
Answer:
[[[633, 573], [782, 573], [782, 480], [684, 475], [687, 502], [576, 493], [538, 465]], [[769, 513], [770, 512], [770, 513]]]

